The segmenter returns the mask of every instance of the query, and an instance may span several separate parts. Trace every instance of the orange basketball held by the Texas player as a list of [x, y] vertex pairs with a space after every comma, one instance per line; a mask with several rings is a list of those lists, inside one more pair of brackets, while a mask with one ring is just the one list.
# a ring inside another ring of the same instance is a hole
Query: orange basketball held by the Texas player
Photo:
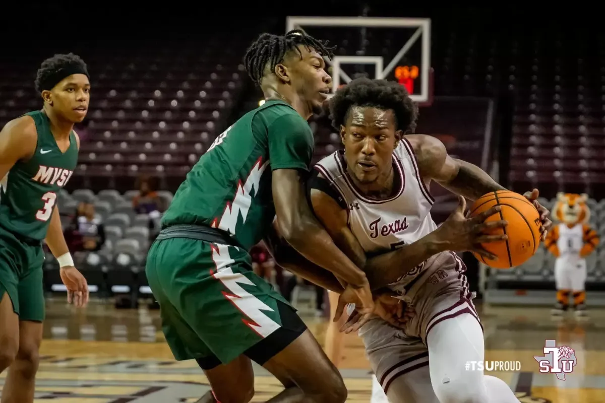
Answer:
[[534, 205], [523, 195], [509, 190], [487, 193], [474, 202], [470, 216], [474, 217], [495, 205], [502, 210], [488, 217], [485, 222], [505, 220], [506, 228], [495, 228], [488, 234], [506, 234], [508, 239], [499, 242], [484, 243], [482, 247], [498, 257], [491, 260], [479, 254], [474, 256], [489, 267], [508, 269], [526, 262], [538, 250], [540, 245], [540, 214]]

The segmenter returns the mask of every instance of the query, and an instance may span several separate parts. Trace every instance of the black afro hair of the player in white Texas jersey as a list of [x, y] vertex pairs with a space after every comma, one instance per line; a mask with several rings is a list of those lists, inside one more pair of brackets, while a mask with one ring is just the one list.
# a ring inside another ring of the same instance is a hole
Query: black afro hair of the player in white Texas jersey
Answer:
[[352, 106], [373, 106], [385, 111], [392, 109], [396, 130], [404, 134], [416, 130], [418, 107], [412, 102], [407, 89], [399, 83], [362, 77], [336, 91], [330, 99], [330, 118], [336, 130], [345, 124]]

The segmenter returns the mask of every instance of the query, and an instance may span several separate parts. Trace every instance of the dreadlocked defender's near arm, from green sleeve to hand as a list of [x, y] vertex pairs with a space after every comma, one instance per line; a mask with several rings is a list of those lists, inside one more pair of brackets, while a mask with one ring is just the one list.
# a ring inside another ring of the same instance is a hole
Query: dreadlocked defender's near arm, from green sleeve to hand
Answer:
[[[258, 125], [263, 127], [264, 121], [253, 120], [252, 126]], [[344, 292], [343, 299], [356, 303], [362, 322], [369, 320], [374, 300], [364, 272], [336, 247], [307, 202], [303, 172], [309, 170], [314, 145], [309, 124], [300, 115], [288, 112], [265, 127], [279, 233], [307, 260], [346, 282], [348, 292]], [[265, 130], [258, 135], [265, 135]]]

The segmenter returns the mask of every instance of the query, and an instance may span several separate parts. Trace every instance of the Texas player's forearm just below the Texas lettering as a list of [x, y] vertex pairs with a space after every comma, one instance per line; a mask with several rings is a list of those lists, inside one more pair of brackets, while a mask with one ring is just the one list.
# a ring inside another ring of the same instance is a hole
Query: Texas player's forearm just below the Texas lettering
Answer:
[[397, 250], [368, 258], [364, 271], [370, 288], [375, 291], [396, 282], [411, 269], [444, 250], [445, 247], [437, 240], [435, 233], [430, 233]]

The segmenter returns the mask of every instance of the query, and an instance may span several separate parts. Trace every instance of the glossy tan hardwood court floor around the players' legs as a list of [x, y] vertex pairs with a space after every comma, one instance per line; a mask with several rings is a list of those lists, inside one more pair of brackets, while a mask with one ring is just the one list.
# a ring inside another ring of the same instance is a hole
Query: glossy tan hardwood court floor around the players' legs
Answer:
[[[596, 403], [605, 401], [605, 311], [590, 320], [553, 321], [546, 308], [483, 307], [486, 359], [521, 361], [518, 372], [491, 372], [511, 385], [520, 402]], [[48, 303], [36, 403], [195, 402], [208, 385], [195, 361], [176, 362], [163, 341], [157, 311], [117, 310], [92, 303], [75, 311]], [[325, 321], [307, 320], [323, 341]], [[559, 381], [538, 372], [534, 355], [545, 340], [575, 349], [574, 372]], [[345, 338], [342, 375], [348, 402], [369, 402], [371, 382], [364, 349], [356, 335]], [[275, 378], [258, 369], [256, 395], [263, 402], [280, 390]], [[0, 375], [0, 388], [5, 374]]]

